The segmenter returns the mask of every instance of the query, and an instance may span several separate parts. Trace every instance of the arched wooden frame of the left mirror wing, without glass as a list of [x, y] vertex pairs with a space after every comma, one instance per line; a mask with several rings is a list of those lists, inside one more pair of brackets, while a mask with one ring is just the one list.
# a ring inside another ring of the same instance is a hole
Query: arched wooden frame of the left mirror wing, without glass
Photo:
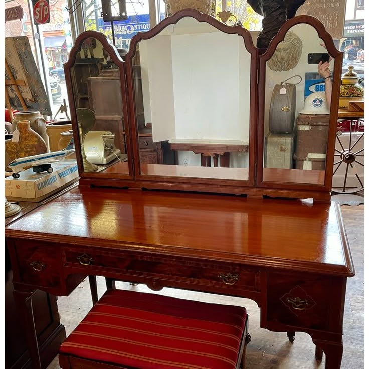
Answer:
[[[89, 38], [94, 38], [98, 40], [104, 50], [106, 50], [113, 61], [113, 63], [118, 67], [119, 70], [119, 77], [120, 77], [120, 85], [121, 85], [121, 93], [122, 93], [122, 99], [123, 99], [123, 119], [124, 119], [124, 129], [125, 134], [127, 136], [126, 139], [126, 147], [127, 147], [127, 155], [128, 155], [128, 168], [129, 168], [129, 174], [122, 174], [122, 173], [104, 173], [102, 172], [85, 172], [82, 164], [82, 155], [81, 155], [81, 139], [78, 132], [78, 125], [77, 125], [77, 115], [76, 115], [76, 106], [75, 106], [75, 95], [73, 91], [73, 80], [72, 80], [72, 68], [75, 65], [77, 55], [82, 50], [82, 44], [85, 40]], [[80, 183], [83, 183], [83, 179], [87, 179], [87, 184], [92, 184], [95, 181], [91, 182], [91, 179], [97, 179], [98, 185], [110, 185], [114, 186], [111, 182], [111, 179], [133, 179], [133, 166], [132, 166], [132, 148], [130, 145], [130, 124], [128, 123], [128, 104], [127, 104], [127, 95], [126, 95], [126, 71], [125, 71], [125, 65], [124, 61], [118, 54], [117, 49], [110, 44], [108, 38], [101, 32], [98, 31], [85, 31], [78, 35], [73, 48], [71, 49], [69, 59], [67, 63], [63, 65], [64, 72], [65, 72], [65, 80], [67, 85], [67, 93], [68, 93], [68, 100], [69, 100], [69, 108], [71, 112], [71, 119], [72, 119], [72, 128], [73, 128], [73, 138], [75, 142], [75, 148], [76, 148], [76, 159], [77, 159], [77, 165], [78, 165], [78, 172], [80, 176]], [[104, 183], [105, 179], [109, 179], [108, 182]]]

